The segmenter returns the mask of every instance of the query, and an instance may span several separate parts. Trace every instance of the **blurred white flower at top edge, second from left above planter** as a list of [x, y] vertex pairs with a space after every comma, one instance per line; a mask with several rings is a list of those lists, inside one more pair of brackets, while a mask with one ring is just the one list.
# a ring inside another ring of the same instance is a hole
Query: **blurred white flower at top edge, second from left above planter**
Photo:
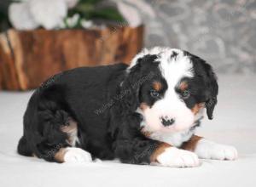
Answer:
[[67, 16], [67, 3], [64, 0], [31, 0], [28, 3], [34, 20], [45, 29], [60, 26]]

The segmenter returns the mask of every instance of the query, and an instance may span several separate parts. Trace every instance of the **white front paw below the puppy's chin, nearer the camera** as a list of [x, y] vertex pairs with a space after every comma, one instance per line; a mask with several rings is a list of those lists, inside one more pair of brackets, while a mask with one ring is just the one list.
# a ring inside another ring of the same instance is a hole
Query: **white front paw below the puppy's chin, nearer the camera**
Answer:
[[176, 147], [167, 148], [157, 161], [166, 167], [197, 167], [200, 165], [198, 156], [188, 150], [179, 150]]

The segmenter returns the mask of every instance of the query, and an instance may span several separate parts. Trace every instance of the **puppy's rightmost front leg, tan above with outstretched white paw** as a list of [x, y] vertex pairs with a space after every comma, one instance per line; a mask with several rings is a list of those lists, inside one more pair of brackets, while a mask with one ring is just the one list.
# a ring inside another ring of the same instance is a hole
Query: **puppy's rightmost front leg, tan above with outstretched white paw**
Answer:
[[194, 151], [197, 156], [204, 159], [236, 160], [237, 150], [235, 147], [225, 144], [217, 144], [199, 136], [192, 136], [185, 142], [183, 150]]

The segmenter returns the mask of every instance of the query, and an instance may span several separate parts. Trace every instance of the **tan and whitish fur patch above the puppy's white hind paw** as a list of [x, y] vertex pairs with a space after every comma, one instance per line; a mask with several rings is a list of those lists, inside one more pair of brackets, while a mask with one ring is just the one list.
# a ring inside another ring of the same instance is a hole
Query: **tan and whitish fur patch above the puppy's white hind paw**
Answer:
[[62, 126], [61, 131], [67, 133], [67, 143], [74, 146], [78, 135], [78, 123], [70, 118], [68, 120], [68, 125]]

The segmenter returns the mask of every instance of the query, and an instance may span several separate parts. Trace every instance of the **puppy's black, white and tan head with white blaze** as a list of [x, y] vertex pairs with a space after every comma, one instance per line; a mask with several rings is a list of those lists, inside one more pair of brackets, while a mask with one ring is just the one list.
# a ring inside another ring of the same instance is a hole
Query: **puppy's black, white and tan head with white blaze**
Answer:
[[186, 51], [145, 49], [132, 60], [123, 88], [128, 111], [144, 117], [149, 131], [176, 132], [195, 124], [207, 109], [212, 119], [218, 83], [211, 65]]

